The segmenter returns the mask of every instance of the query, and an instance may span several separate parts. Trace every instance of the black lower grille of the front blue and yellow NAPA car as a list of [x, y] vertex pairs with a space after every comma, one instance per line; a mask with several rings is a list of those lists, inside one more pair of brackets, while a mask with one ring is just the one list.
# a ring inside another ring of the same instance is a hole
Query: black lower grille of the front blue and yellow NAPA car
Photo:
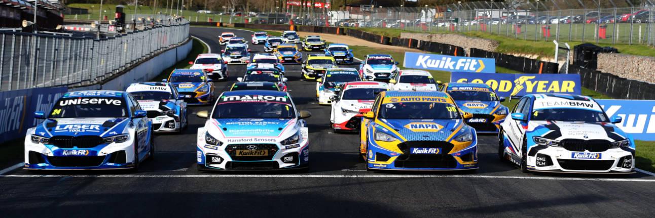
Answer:
[[[396, 167], [400, 168], [455, 168], [457, 161], [448, 153], [453, 149], [453, 144], [440, 141], [409, 141], [398, 144], [403, 154], [394, 161]], [[413, 154], [411, 148], [440, 148], [440, 154]]]

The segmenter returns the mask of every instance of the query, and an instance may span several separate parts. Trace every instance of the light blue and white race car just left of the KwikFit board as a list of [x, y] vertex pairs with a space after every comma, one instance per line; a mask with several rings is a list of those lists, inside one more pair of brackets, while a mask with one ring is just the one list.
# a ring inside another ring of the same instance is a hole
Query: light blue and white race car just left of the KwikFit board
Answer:
[[388, 81], [398, 74], [398, 62], [391, 55], [369, 54], [360, 63], [360, 71], [366, 80]]

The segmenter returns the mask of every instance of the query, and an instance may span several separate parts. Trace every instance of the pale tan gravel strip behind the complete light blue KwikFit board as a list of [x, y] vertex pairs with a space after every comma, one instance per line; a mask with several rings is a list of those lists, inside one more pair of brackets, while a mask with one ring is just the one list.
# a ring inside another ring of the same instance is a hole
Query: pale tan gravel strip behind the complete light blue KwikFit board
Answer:
[[400, 38], [452, 44], [454, 46], [460, 46], [464, 48], [467, 54], [470, 52], [470, 48], [495, 52], [496, 48], [498, 48], [498, 45], [500, 45], [500, 43], [495, 40], [466, 37], [457, 34], [400, 33]]

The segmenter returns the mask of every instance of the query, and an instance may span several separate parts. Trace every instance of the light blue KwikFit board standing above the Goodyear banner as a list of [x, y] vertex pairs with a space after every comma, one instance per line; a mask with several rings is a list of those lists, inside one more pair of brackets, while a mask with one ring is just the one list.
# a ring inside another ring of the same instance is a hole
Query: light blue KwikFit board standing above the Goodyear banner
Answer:
[[405, 52], [403, 67], [448, 72], [496, 72], [496, 59]]

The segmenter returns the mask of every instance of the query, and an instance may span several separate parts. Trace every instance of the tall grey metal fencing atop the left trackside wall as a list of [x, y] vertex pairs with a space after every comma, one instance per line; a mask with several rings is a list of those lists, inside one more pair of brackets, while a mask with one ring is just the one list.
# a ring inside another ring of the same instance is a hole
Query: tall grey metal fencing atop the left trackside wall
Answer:
[[0, 91], [99, 84], [189, 38], [189, 23], [100, 37], [0, 31]]

